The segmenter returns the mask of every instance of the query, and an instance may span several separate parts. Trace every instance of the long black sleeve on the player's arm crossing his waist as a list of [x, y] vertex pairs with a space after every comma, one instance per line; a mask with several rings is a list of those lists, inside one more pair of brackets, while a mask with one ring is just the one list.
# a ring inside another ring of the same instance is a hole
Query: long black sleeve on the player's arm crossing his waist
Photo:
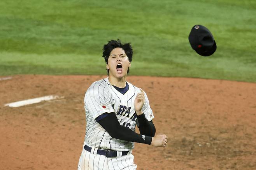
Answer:
[[120, 125], [114, 112], [105, 114], [108, 115], [97, 122], [110, 134], [111, 137], [123, 141], [138, 142], [149, 145], [151, 144], [152, 137], [144, 137], [136, 132], [133, 132], [128, 127]]

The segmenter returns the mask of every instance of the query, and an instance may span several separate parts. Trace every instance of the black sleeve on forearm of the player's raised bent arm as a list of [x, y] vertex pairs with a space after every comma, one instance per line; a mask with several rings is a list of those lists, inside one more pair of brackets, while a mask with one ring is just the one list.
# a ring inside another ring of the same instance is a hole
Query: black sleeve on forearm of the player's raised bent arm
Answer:
[[153, 121], [148, 121], [144, 113], [137, 116], [137, 119], [139, 122], [138, 128], [140, 130], [140, 134], [154, 137], [154, 135], [156, 134], [156, 128]]

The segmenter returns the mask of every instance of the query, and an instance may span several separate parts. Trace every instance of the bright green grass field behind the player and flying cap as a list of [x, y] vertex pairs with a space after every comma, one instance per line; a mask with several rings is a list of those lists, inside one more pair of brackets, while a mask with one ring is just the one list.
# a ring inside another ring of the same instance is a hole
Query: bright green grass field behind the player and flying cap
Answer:
[[[256, 1], [2, 0], [0, 75], [105, 75], [103, 44], [131, 42], [130, 75], [256, 82]], [[210, 57], [188, 42], [195, 24], [217, 43]]]

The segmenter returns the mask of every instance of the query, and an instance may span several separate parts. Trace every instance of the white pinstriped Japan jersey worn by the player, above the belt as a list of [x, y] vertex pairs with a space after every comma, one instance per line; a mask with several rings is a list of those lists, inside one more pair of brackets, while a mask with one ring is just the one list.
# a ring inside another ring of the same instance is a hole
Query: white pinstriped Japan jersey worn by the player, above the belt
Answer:
[[[140, 93], [140, 89], [133, 86], [131, 83], [128, 83], [128, 85], [129, 90], [125, 94], [121, 94], [110, 84], [108, 78], [104, 78], [92, 83], [88, 88], [84, 97], [84, 109], [86, 112], [84, 144], [115, 151], [128, 151], [133, 149], [134, 142], [112, 138], [105, 129], [95, 121], [95, 119], [103, 113], [115, 112], [120, 125], [135, 131], [137, 115], [134, 109], [134, 100], [136, 95]], [[154, 116], [146, 94], [145, 99], [142, 111], [147, 120], [151, 121]]]

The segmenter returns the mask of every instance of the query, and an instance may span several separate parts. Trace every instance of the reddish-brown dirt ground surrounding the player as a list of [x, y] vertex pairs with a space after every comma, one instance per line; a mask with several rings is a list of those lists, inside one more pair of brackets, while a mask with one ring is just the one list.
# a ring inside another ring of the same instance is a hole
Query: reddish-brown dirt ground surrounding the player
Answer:
[[[16, 75], [0, 81], [0, 169], [74, 170], [84, 93], [105, 76]], [[256, 169], [256, 83], [128, 76], [148, 95], [166, 148], [135, 144], [138, 170]], [[10, 108], [46, 95], [63, 99]], [[138, 130], [137, 130], [138, 132]]]

